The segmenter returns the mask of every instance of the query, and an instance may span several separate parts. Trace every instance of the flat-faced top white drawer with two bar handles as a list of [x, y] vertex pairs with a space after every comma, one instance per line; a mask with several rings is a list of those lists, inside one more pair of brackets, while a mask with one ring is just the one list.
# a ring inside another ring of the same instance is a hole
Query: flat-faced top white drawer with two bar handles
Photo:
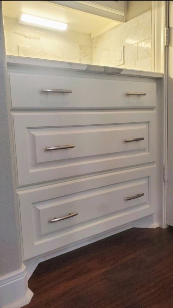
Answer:
[[153, 79], [87, 78], [87, 74], [79, 77], [75, 73], [72, 76], [9, 75], [12, 107], [156, 107], [156, 80]]

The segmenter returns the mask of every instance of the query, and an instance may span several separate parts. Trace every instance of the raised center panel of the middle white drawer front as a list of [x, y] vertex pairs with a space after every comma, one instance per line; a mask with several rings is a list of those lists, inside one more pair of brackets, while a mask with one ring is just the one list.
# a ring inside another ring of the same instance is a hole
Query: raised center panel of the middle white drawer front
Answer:
[[[37, 163], [121, 152], [148, 152], [148, 123], [30, 130], [35, 136]], [[144, 140], [125, 142], [129, 138]], [[74, 145], [74, 148], [47, 148]], [[130, 152], [130, 154], [128, 154]]]

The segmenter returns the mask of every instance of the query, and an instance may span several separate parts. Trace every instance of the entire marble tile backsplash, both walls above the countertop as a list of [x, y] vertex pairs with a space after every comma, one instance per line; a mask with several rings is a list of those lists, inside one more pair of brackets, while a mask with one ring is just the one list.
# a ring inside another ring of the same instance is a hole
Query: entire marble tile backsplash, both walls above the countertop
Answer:
[[151, 10], [91, 39], [90, 34], [56, 32], [20, 25], [4, 16], [7, 55], [18, 55], [18, 45], [30, 46], [31, 57], [103, 66], [118, 66], [118, 47], [124, 46], [124, 65], [151, 71]]

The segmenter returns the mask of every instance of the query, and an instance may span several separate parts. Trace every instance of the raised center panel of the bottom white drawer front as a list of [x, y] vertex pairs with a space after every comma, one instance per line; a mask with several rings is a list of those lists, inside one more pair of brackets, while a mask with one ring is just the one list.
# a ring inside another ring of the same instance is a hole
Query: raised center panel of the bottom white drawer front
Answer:
[[[126, 197], [139, 198], [126, 200]], [[59, 200], [60, 199], [60, 200]], [[44, 201], [34, 204], [34, 210], [40, 212], [40, 234], [44, 235], [62, 228], [79, 224], [93, 218], [110, 214], [136, 205], [148, 205], [148, 178], [131, 180], [121, 184], [113, 184], [106, 188], [92, 189], [71, 196], [57, 198], [53, 201]], [[115, 206], [116, 204], [116, 206]], [[64, 217], [69, 213], [78, 213], [77, 216], [66, 220], [50, 223], [54, 217]]]

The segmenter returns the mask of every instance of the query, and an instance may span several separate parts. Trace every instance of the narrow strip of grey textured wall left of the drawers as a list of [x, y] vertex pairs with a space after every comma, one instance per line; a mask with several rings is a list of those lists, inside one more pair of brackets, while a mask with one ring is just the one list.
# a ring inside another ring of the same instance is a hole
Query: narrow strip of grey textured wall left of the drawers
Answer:
[[21, 268], [19, 229], [16, 223], [12, 182], [4, 43], [0, 1], [0, 275]]

